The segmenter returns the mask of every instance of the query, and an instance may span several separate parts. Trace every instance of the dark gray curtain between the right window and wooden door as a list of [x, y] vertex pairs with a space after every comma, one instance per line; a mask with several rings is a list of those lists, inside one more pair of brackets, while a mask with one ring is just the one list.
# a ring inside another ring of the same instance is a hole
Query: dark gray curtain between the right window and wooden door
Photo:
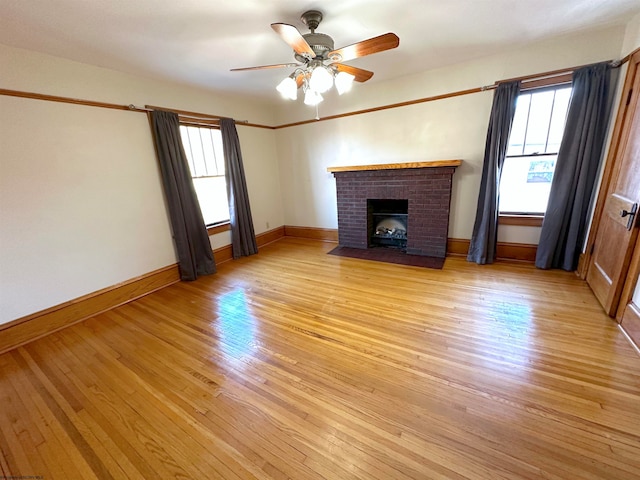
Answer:
[[536, 254], [538, 268], [578, 267], [617, 75], [607, 62], [573, 73], [567, 123]]

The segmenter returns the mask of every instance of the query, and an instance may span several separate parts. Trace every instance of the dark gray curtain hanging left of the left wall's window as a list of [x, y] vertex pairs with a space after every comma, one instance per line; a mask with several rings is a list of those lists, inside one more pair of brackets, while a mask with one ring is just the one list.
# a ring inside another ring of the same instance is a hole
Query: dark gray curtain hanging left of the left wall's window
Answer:
[[182, 146], [178, 115], [155, 110], [151, 112], [151, 126], [178, 254], [180, 278], [195, 280], [199, 275], [214, 273], [216, 265]]

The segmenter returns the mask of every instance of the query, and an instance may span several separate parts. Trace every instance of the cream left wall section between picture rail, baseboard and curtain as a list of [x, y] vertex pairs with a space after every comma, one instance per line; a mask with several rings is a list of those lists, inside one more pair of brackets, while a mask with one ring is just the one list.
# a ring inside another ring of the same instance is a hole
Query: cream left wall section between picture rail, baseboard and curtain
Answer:
[[175, 262], [145, 115], [0, 111], [0, 323]]

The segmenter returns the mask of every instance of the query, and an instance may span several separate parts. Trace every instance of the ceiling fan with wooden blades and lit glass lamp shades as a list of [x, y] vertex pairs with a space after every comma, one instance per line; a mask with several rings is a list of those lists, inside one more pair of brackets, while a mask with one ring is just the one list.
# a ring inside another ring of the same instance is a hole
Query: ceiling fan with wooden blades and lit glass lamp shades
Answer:
[[351, 88], [354, 80], [356, 82], [366, 82], [373, 76], [373, 72], [369, 70], [345, 65], [342, 62], [391, 50], [400, 43], [397, 35], [385, 33], [378, 37], [335, 49], [333, 38], [324, 33], [316, 33], [316, 29], [322, 21], [321, 12], [309, 10], [302, 14], [300, 20], [309, 27], [311, 33], [302, 35], [296, 27], [286, 23], [271, 24], [271, 28], [293, 48], [294, 57], [298, 63], [233, 68], [231, 71], [295, 67], [294, 72], [276, 87], [277, 90], [284, 97], [295, 100], [298, 88], [302, 88], [305, 94], [304, 103], [317, 105], [322, 101], [321, 94], [329, 90], [334, 83], [336, 90], [342, 95]]

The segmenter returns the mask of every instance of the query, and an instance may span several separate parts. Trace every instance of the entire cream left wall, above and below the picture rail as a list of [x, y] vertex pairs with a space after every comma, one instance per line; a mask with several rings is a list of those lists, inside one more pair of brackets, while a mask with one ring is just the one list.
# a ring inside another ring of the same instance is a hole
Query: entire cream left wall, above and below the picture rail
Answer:
[[[274, 122], [256, 99], [5, 46], [0, 71], [0, 88]], [[7, 96], [0, 112], [0, 324], [176, 262], [144, 114]], [[275, 137], [238, 134], [261, 233], [284, 222]]]

